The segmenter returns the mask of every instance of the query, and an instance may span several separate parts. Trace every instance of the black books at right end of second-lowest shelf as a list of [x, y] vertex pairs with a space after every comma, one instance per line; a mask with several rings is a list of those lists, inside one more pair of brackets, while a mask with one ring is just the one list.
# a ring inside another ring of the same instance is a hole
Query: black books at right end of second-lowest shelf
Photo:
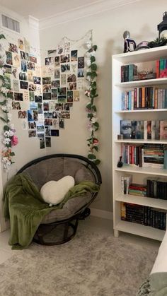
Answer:
[[149, 178], [146, 180], [146, 196], [153, 199], [167, 200], [167, 181], [161, 178]]

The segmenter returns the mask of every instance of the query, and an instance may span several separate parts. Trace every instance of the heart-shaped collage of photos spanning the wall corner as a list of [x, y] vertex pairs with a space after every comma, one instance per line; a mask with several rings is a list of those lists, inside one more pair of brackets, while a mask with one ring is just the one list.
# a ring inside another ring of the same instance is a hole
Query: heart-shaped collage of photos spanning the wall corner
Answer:
[[30, 53], [25, 38], [8, 43], [4, 75], [13, 97], [12, 108], [18, 119], [28, 124], [28, 137], [39, 138], [40, 148], [51, 147], [52, 136], [59, 136], [79, 102], [84, 88], [84, 55], [63, 42], [48, 50], [44, 66]]

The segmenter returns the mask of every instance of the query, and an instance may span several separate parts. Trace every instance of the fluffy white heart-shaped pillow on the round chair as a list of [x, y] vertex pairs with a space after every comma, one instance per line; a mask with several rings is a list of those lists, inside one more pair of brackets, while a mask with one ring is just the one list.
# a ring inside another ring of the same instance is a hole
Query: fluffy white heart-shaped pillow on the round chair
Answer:
[[45, 183], [40, 189], [40, 194], [46, 203], [50, 203], [50, 206], [57, 205], [57, 203], [60, 203], [64, 199], [65, 194], [67, 194], [74, 184], [73, 177], [65, 176], [59, 179], [59, 181]]

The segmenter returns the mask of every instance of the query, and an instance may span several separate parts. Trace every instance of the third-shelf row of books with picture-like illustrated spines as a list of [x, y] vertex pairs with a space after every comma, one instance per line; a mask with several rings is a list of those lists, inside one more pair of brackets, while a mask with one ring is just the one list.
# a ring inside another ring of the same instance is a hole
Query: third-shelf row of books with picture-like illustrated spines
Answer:
[[166, 120], [120, 120], [120, 134], [124, 139], [166, 140]]

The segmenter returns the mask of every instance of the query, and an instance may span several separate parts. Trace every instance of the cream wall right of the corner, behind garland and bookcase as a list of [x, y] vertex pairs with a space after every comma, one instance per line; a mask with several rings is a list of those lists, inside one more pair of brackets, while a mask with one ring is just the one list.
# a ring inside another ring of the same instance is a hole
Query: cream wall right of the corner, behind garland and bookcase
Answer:
[[[69, 23], [54, 25], [40, 30], [42, 49], [54, 49], [62, 37], [77, 40], [93, 29], [93, 43], [98, 45], [96, 61], [98, 64], [98, 120], [100, 130], [100, 150], [98, 157], [103, 184], [100, 194], [92, 207], [102, 211], [112, 211], [112, 172], [111, 172], [111, 55], [123, 52], [123, 32], [129, 30], [137, 44], [143, 40], [154, 40], [158, 37], [157, 24], [166, 11], [166, 0], [144, 0], [121, 6], [114, 10], [83, 17]], [[77, 18], [77, 16], [76, 16]], [[115, 97], [115, 100], [117, 98]], [[83, 96], [74, 110], [74, 117], [64, 129], [63, 136], [56, 138], [52, 152], [79, 153], [87, 155], [86, 138], [86, 97]], [[113, 155], [114, 157], [114, 155]], [[118, 184], [119, 186], [119, 184]]]

